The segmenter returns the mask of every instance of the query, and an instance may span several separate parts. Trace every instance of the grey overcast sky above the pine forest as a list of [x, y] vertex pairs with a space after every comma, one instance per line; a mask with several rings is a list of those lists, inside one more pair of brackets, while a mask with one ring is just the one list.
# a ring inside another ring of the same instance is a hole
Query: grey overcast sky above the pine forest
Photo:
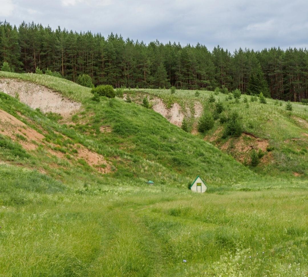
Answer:
[[[197, 42], [212, 50], [306, 47], [305, 0], [0, 0], [0, 20], [68, 30], [111, 32], [148, 43]], [[308, 47], [307, 47], [308, 48]]]

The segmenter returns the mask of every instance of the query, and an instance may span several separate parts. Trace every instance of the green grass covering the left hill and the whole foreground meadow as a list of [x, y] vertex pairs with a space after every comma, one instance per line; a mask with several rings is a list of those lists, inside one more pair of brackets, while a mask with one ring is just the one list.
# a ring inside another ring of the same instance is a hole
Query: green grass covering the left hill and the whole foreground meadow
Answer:
[[[57, 132], [114, 166], [100, 175], [82, 163], [48, 157], [43, 147], [25, 152], [1, 137], [2, 275], [307, 274], [305, 181], [260, 177], [136, 104], [97, 104], [88, 89], [49, 76], [0, 76], [45, 84], [82, 101], [71, 126], [5, 94], [0, 109], [57, 141], [67, 155], [71, 149]], [[102, 125], [112, 132], [100, 132]], [[209, 183], [209, 193], [186, 189], [196, 174]], [[146, 179], [156, 185], [146, 186]]]

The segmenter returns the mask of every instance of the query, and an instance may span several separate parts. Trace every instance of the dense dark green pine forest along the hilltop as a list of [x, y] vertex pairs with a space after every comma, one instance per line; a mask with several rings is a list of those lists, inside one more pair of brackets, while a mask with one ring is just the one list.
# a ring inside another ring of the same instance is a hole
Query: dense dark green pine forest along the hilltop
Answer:
[[95, 85], [207, 90], [225, 86], [283, 100], [308, 98], [308, 51], [302, 48], [240, 48], [231, 54], [220, 46], [210, 52], [201, 44], [145, 44], [112, 33], [104, 38], [33, 22], [18, 28], [0, 22], [0, 64], [4, 61], [16, 72], [48, 68], [72, 81], [88, 74]]

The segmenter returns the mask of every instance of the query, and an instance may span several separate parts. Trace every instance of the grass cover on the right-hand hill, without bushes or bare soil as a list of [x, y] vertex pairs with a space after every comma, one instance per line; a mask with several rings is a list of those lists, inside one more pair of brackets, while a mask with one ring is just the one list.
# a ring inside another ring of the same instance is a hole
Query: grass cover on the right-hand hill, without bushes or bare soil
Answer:
[[[183, 109], [189, 108], [193, 111], [193, 103], [200, 102], [206, 109], [213, 109], [213, 104], [208, 102], [209, 95], [213, 92], [200, 91], [200, 96], [195, 96], [195, 91], [177, 90], [175, 94], [170, 94], [169, 90], [126, 90], [133, 99], [140, 101], [145, 94], [152, 97], [159, 97], [164, 100], [167, 106], [178, 102]], [[292, 177], [294, 172], [299, 173], [303, 179], [308, 177], [308, 107], [300, 103], [292, 103], [293, 110], [286, 111], [286, 102], [267, 99], [267, 104], [261, 104], [259, 101], [250, 102], [249, 107], [243, 102], [244, 95], [241, 96], [240, 102], [227, 100], [225, 94], [215, 95], [216, 99], [220, 99], [225, 110], [237, 110], [243, 119], [244, 130], [249, 134], [253, 134], [260, 139], [268, 140], [271, 147], [274, 148], [270, 158], [270, 163], [260, 163], [254, 170], [258, 173], [266, 175], [278, 176], [283, 174], [285, 178]], [[282, 103], [282, 106], [279, 104]], [[302, 122], [300, 122], [302, 121]], [[206, 134], [199, 134], [200, 138], [211, 139], [215, 132], [221, 128], [219, 120], [215, 126]], [[221, 139], [221, 134], [212, 143], [218, 147], [222, 147], [226, 143], [226, 139]], [[237, 150], [233, 148], [237, 139], [230, 140], [230, 147], [227, 152], [233, 156], [237, 156]], [[249, 160], [249, 153], [247, 155]]]

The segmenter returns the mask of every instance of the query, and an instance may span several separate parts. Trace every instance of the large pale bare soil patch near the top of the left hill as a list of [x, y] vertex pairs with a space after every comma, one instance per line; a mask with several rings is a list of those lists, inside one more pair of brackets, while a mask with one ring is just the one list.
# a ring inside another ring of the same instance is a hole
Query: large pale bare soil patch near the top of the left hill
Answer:
[[18, 95], [21, 102], [33, 109], [39, 108], [44, 113], [53, 112], [68, 116], [79, 110], [80, 103], [63, 97], [45, 86], [17, 79], [0, 79], [0, 91], [13, 97]]

